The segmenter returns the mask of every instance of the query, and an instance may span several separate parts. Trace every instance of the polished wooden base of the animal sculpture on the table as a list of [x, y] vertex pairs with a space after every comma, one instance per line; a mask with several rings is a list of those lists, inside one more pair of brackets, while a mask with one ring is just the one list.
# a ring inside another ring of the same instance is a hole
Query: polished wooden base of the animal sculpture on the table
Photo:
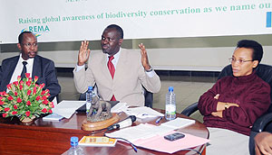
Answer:
[[89, 122], [89, 121], [87, 121], [87, 118], [86, 118], [86, 119], [84, 119], [84, 121], [82, 123], [82, 129], [84, 131], [101, 130], [101, 129], [109, 127], [113, 123], [118, 123], [119, 119], [120, 119], [119, 115], [116, 113], [112, 114], [112, 118], [105, 120], [105, 121], [96, 122], [96, 123]]

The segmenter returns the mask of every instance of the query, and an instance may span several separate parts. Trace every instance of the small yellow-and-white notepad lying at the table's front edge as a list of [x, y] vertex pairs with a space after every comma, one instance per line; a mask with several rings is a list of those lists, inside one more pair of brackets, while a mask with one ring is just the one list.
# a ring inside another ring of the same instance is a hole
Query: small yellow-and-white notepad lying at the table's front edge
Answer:
[[79, 145], [83, 146], [102, 146], [102, 147], [113, 147], [116, 144], [116, 139], [108, 137], [96, 137], [96, 136], [83, 136]]

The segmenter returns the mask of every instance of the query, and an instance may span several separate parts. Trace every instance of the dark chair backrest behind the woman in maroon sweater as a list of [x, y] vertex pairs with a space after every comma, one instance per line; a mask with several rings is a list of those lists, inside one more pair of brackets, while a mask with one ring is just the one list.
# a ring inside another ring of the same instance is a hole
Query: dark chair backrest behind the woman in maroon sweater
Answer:
[[[256, 74], [259, 78], [262, 78], [264, 81], [266, 81], [272, 90], [272, 66], [265, 65], [265, 64], [259, 64], [257, 65], [257, 68], [255, 68]], [[231, 65], [226, 66], [222, 69], [222, 71], [219, 74], [219, 78], [223, 78], [226, 76], [232, 76], [232, 68]], [[270, 98], [272, 98], [272, 91], [270, 92]], [[269, 106], [269, 109], [267, 112], [272, 112], [272, 104]]]

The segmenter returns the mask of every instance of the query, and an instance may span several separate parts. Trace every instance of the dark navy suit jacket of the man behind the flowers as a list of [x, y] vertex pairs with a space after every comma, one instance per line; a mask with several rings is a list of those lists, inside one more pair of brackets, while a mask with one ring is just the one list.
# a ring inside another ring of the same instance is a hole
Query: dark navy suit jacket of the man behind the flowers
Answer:
[[[6, 90], [6, 85], [9, 84], [10, 79], [14, 74], [18, 60], [19, 56], [15, 56], [2, 61], [0, 69], [0, 91]], [[38, 85], [44, 83], [44, 89], [49, 89], [51, 95], [49, 97], [50, 101], [53, 100], [54, 96], [57, 96], [61, 92], [61, 87], [55, 74], [54, 63], [51, 59], [45, 59], [36, 55], [34, 57], [33, 79], [34, 76], [39, 78], [36, 82]]]

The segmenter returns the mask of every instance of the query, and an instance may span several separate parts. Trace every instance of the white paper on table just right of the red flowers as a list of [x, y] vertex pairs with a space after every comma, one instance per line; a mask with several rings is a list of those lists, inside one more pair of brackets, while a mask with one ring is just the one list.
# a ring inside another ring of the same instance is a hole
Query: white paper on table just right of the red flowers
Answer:
[[65, 118], [70, 118], [76, 109], [85, 104], [85, 101], [67, 101], [63, 100], [53, 108], [54, 114], [59, 114]]

